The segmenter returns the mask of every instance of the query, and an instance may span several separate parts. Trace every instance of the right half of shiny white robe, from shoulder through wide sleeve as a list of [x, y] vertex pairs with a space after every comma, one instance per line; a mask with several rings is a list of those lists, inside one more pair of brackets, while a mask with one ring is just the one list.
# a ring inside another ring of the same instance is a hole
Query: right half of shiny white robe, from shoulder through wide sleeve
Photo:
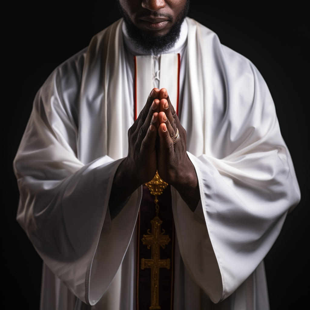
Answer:
[[217, 303], [261, 263], [300, 192], [262, 76], [215, 33], [187, 22], [184, 98], [192, 104], [181, 124], [205, 223], [198, 224], [200, 209], [191, 214], [175, 190], [173, 210], [184, 264]]

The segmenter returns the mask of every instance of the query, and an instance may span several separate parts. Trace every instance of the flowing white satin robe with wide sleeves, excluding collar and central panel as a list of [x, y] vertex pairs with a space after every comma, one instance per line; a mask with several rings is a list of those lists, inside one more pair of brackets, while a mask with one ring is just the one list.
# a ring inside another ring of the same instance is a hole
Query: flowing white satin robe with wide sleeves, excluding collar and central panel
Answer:
[[[186, 23], [179, 116], [201, 200], [193, 213], [171, 187], [175, 309], [268, 309], [263, 258], [300, 199], [292, 160], [255, 66]], [[132, 66], [118, 20], [35, 97], [14, 169], [17, 220], [44, 261], [41, 309], [135, 308], [141, 188], [113, 220], [108, 209], [134, 122]]]

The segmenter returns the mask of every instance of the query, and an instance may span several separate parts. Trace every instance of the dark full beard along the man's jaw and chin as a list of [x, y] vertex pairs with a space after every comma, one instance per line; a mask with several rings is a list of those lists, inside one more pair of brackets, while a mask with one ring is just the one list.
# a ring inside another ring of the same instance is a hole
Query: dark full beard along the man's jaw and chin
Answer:
[[[145, 54], [150, 55], [162, 54], [175, 46], [175, 43], [180, 37], [181, 25], [189, 9], [189, 0], [187, 0], [184, 9], [177, 16], [175, 23], [172, 25], [169, 32], [163, 36], [151, 36], [145, 33], [141, 33], [135, 24], [131, 21], [127, 12], [123, 10], [119, 1], [117, 1], [117, 4], [126, 25], [129, 40], [135, 48], [143, 51]], [[152, 16], [162, 17], [162, 15], [156, 11], [152, 12]]]

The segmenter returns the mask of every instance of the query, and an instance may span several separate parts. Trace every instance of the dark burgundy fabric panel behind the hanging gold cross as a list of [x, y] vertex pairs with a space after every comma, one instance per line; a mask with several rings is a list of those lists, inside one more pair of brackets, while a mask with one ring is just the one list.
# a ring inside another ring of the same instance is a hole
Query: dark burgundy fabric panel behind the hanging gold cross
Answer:
[[[152, 259], [151, 247], [148, 249], [143, 244], [144, 235], [152, 233], [151, 220], [156, 217], [154, 203], [155, 197], [151, 195], [148, 188], [143, 185], [142, 201], [137, 219], [137, 310], [151, 309], [151, 268], [141, 269], [141, 259]], [[157, 196], [159, 213], [158, 217], [162, 221], [161, 234], [168, 235], [170, 241], [165, 248], [160, 247], [160, 259], [170, 259], [170, 268], [159, 269], [159, 306], [162, 310], [173, 309], [174, 297], [174, 247], [175, 247], [175, 227], [172, 213], [172, 199], [170, 185], [164, 189], [162, 195]], [[149, 233], [148, 233], [149, 229]], [[164, 231], [163, 231], [164, 229]]]

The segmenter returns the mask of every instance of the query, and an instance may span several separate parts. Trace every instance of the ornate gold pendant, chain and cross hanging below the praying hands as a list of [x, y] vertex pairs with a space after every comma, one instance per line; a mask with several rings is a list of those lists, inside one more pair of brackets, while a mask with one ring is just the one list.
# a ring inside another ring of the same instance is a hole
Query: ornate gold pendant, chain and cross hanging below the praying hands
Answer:
[[[151, 259], [141, 259], [141, 269], [151, 268], [151, 306], [149, 309], [161, 309], [159, 305], [159, 270], [160, 268], [170, 269], [170, 258], [160, 259], [160, 247], [163, 249], [169, 243], [170, 238], [165, 235], [165, 229], [161, 229], [162, 220], [158, 217], [159, 206], [157, 196], [161, 195], [168, 183], [163, 181], [158, 172], [152, 181], [145, 184], [152, 195], [155, 196], [156, 216], [151, 220], [152, 232], [148, 229], [148, 234], [143, 235], [142, 242], [151, 249]], [[161, 232], [162, 231], [162, 232]]]

